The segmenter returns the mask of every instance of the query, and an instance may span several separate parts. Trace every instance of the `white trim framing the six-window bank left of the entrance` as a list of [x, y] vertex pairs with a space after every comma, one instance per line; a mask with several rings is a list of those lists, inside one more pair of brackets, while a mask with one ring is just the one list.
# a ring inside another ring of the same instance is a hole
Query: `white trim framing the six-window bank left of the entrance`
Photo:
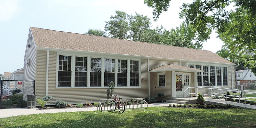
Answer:
[[[71, 62], [71, 87], [58, 87], [58, 71], [59, 71], [59, 55], [64, 56], [72, 56]], [[75, 87], [75, 63], [76, 63], [76, 56], [78, 57], [87, 57], [87, 87]], [[90, 87], [90, 74], [91, 74], [91, 56], [92, 58], [101, 58], [101, 86], [99, 87]], [[97, 53], [88, 54], [88, 56], [84, 56], [84, 54], [80, 52], [67, 52], [62, 51], [61, 53], [57, 51], [56, 54], [56, 89], [70, 89], [70, 88], [108, 88], [104, 86], [104, 71], [105, 71], [105, 58], [107, 59], [115, 59], [115, 87], [116, 88], [141, 88], [141, 61], [140, 58], [132, 58], [132, 57], [118, 57], [117, 56], [97, 56]], [[117, 60], [127, 60], [127, 86], [117, 86]], [[130, 86], [130, 60], [139, 61], [139, 86]], [[104, 63], [104, 64], [103, 64]], [[129, 64], [129, 65], [128, 65]], [[165, 80], [166, 81], [166, 80]]]

